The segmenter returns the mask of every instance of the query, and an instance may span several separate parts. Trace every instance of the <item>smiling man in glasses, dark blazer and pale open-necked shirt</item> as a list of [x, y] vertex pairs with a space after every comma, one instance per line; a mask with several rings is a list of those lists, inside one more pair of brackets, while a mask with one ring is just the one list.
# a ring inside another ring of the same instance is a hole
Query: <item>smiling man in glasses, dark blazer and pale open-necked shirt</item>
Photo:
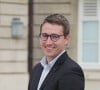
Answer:
[[28, 90], [84, 90], [84, 74], [65, 51], [70, 41], [68, 20], [52, 14], [40, 27], [40, 46], [45, 56], [33, 71]]

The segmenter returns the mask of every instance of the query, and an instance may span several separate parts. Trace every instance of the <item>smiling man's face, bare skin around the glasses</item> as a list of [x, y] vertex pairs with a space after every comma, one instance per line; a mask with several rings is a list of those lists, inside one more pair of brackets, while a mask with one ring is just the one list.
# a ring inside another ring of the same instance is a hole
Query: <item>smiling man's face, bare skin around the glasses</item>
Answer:
[[50, 36], [47, 40], [43, 40], [42, 38], [40, 39], [40, 46], [43, 49], [48, 61], [51, 61], [58, 54], [60, 54], [65, 49], [65, 46], [69, 41], [69, 35], [64, 37], [63, 27], [61, 25], [45, 23], [42, 26], [41, 34], [46, 34], [47, 36], [55, 34], [62, 35], [57, 41], [51, 40]]

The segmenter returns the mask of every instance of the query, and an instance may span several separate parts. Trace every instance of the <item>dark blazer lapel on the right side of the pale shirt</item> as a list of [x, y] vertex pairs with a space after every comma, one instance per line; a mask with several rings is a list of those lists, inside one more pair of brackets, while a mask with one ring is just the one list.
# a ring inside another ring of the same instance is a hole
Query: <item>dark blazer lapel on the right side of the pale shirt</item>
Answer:
[[63, 53], [57, 60], [57, 62], [54, 64], [54, 66], [52, 67], [52, 69], [50, 70], [49, 74], [47, 75], [46, 79], [43, 81], [43, 84], [41, 85], [40, 90], [42, 90], [45, 85], [48, 83], [48, 81], [50, 80], [50, 78], [52, 78], [52, 76], [54, 75], [54, 73], [60, 68], [60, 66], [64, 63], [64, 61], [66, 60], [66, 52]]

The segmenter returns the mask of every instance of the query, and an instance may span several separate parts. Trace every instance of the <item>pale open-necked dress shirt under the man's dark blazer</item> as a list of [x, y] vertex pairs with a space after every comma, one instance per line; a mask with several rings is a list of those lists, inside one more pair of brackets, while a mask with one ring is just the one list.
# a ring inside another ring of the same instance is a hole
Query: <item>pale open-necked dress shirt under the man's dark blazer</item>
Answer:
[[55, 62], [58, 60], [58, 58], [65, 52], [62, 51], [56, 58], [54, 58], [52, 61], [50, 61], [49, 63], [47, 63], [47, 60], [46, 60], [46, 56], [44, 56], [40, 63], [42, 64], [42, 66], [44, 67], [43, 71], [42, 71], [42, 74], [41, 74], [41, 77], [40, 77], [40, 80], [39, 80], [39, 84], [38, 84], [38, 88], [37, 90], [40, 89], [44, 79], [46, 78], [47, 74], [50, 72], [51, 68], [53, 67], [53, 65], [55, 64]]

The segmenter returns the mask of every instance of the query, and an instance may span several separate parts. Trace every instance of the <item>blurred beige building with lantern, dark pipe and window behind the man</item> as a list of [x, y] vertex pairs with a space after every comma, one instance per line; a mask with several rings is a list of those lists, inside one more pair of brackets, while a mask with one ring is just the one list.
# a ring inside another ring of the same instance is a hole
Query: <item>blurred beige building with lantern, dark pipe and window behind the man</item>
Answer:
[[85, 73], [85, 90], [100, 90], [100, 0], [0, 0], [0, 90], [27, 90], [43, 56], [39, 27], [53, 13], [70, 22], [70, 57]]

